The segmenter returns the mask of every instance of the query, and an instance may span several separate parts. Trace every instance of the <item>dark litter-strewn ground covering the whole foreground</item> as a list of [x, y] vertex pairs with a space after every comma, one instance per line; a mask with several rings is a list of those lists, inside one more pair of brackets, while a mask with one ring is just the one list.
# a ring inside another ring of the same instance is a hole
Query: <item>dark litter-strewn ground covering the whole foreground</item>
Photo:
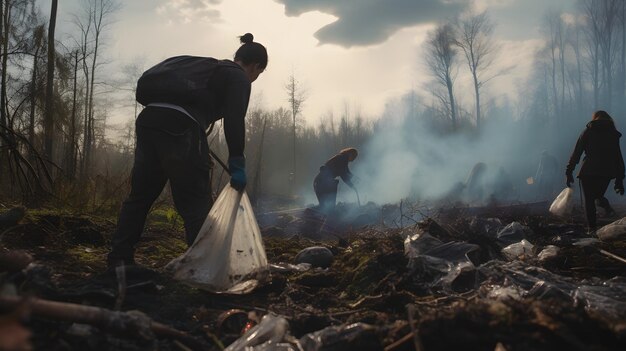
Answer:
[[[238, 295], [190, 282], [197, 282], [195, 271], [182, 279], [171, 274], [173, 265], [185, 273], [180, 268], [189, 266], [176, 265], [186, 257], [211, 259], [199, 255], [198, 246], [214, 235], [199, 236], [185, 252], [177, 244], [182, 238], [149, 227], [138, 250], [144, 268], [107, 276], [98, 273], [105, 244], [86, 246], [75, 235], [61, 240], [71, 228], [61, 231], [47, 220], [46, 231], [58, 234], [30, 247], [24, 239], [44, 224], [25, 223], [2, 242], [0, 323], [21, 327], [39, 348], [625, 349], [626, 222], [615, 221], [593, 238], [582, 223], [547, 208], [534, 211], [511, 217], [485, 210], [403, 226], [383, 220], [322, 238], [287, 235], [282, 224], [260, 220], [260, 228], [246, 232], [262, 238], [266, 261], [256, 261], [262, 263], [254, 275], [229, 280], [232, 287], [254, 278], [253, 290]], [[106, 237], [112, 229], [92, 231]], [[232, 241], [233, 257], [245, 251], [237, 245]], [[76, 248], [80, 254], [71, 254]], [[33, 298], [20, 298], [26, 295]], [[74, 313], [54, 314], [53, 307]], [[85, 317], [96, 315], [100, 319]]]

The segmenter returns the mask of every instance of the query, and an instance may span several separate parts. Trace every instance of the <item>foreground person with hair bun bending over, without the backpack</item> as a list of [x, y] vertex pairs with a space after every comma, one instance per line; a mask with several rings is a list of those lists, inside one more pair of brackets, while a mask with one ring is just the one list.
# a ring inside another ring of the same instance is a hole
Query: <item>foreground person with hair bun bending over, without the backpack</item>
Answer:
[[194, 242], [213, 202], [212, 160], [205, 131], [220, 118], [228, 144], [230, 184], [240, 191], [245, 188], [244, 118], [251, 83], [267, 66], [265, 47], [253, 39], [250, 33], [241, 36], [234, 61], [219, 61], [205, 99], [184, 106], [150, 103], [137, 117], [131, 190], [113, 234], [109, 268], [134, 264], [146, 216], [168, 180], [174, 205], [184, 220], [187, 244]]

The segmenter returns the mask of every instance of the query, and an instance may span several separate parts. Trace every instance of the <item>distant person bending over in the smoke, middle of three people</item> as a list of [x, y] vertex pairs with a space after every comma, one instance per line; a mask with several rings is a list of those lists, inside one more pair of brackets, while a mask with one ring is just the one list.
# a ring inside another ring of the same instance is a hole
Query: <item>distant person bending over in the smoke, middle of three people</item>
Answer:
[[313, 190], [320, 203], [320, 211], [330, 213], [337, 202], [337, 186], [340, 177], [344, 183], [354, 189], [354, 176], [348, 168], [348, 163], [354, 161], [359, 155], [355, 148], [341, 150], [337, 155], [320, 167], [320, 172], [313, 181]]

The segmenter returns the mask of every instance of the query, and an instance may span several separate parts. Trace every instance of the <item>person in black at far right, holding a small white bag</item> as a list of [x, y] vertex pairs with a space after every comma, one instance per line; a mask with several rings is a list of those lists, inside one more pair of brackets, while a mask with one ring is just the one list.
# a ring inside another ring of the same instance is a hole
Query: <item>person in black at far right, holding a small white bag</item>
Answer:
[[615, 179], [615, 191], [624, 195], [624, 159], [619, 146], [621, 136], [611, 116], [605, 111], [596, 111], [578, 138], [567, 164], [566, 184], [570, 187], [574, 183], [574, 168], [585, 153], [578, 178], [585, 199], [589, 232], [596, 229], [596, 203], [607, 216], [615, 214], [609, 200], [604, 197], [611, 179]]

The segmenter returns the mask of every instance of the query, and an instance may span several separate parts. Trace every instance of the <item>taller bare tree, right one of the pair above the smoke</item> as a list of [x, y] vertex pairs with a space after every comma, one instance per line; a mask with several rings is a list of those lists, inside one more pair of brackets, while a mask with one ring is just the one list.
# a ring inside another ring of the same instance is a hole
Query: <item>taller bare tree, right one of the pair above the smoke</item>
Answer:
[[486, 11], [479, 14], [469, 12], [456, 22], [456, 44], [463, 50], [474, 82], [476, 104], [476, 127], [480, 128], [480, 89], [491, 77], [484, 77], [492, 66], [498, 46], [493, 40], [494, 24]]

